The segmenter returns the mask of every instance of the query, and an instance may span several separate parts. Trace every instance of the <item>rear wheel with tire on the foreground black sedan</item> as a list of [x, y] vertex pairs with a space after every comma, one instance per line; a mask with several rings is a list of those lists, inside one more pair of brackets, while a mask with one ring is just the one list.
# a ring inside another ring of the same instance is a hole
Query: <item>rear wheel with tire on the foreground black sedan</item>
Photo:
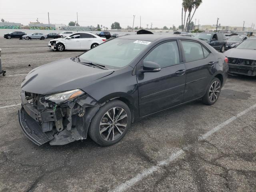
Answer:
[[206, 94], [202, 97], [202, 102], [206, 105], [214, 104], [219, 96], [221, 90], [221, 82], [218, 78], [214, 78], [207, 88]]

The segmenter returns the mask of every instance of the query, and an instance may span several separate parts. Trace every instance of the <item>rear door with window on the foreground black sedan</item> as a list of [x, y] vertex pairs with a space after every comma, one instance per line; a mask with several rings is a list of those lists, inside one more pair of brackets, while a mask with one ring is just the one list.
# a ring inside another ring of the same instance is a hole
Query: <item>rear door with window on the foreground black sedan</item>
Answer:
[[186, 66], [186, 85], [183, 102], [204, 96], [206, 88], [216, 72], [216, 58], [202, 44], [182, 40]]

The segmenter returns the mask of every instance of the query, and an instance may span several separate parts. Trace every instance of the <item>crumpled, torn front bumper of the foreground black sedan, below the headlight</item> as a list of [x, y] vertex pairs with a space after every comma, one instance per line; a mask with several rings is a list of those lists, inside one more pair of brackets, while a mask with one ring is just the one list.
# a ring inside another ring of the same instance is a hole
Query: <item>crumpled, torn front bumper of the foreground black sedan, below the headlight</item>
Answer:
[[[38, 110], [26, 100], [24, 91], [20, 95], [20, 128], [37, 145], [47, 142], [50, 142], [50, 145], [64, 145], [86, 139], [90, 121], [100, 107], [96, 100], [86, 94], [65, 104], [56, 105], [54, 109], [41, 106], [42, 110]], [[81, 115], [80, 111], [84, 111], [84, 114]]]

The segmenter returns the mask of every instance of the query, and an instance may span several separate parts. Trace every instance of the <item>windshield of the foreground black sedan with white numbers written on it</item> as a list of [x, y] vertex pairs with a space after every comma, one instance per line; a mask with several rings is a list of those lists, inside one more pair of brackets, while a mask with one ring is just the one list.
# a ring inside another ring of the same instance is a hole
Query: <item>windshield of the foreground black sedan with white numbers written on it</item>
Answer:
[[81, 62], [101, 64], [107, 68], [122, 68], [132, 62], [151, 42], [113, 39], [80, 55]]

